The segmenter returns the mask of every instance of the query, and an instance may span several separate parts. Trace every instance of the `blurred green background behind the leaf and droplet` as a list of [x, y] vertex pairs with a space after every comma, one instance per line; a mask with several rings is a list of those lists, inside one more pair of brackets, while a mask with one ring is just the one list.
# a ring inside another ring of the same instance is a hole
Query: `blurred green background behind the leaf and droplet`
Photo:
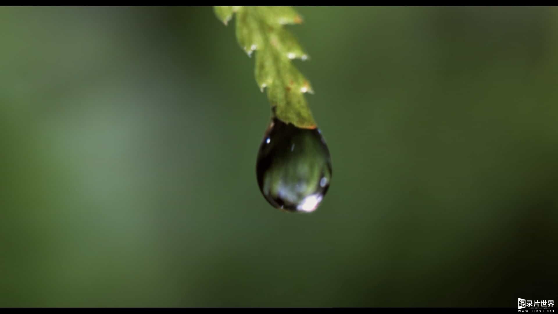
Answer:
[[270, 106], [211, 7], [0, 8], [0, 306], [556, 299], [558, 8], [297, 9], [310, 215], [258, 190]]

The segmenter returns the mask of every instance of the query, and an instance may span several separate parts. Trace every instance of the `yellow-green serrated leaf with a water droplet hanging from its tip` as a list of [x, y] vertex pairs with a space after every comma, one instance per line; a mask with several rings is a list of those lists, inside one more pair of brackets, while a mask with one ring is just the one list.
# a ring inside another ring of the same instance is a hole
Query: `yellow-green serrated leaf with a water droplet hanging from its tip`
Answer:
[[305, 93], [310, 82], [292, 63], [309, 55], [285, 25], [300, 24], [302, 17], [292, 7], [214, 7], [225, 25], [236, 13], [235, 35], [249, 57], [256, 55], [254, 76], [263, 92], [267, 89], [273, 116], [285, 123], [314, 129]]

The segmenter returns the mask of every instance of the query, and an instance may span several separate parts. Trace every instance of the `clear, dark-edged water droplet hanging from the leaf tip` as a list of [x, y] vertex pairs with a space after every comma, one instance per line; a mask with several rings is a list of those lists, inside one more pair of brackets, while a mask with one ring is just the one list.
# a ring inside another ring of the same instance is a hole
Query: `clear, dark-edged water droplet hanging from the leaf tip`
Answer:
[[267, 202], [289, 212], [315, 211], [332, 174], [329, 149], [319, 129], [271, 121], [256, 163], [259, 189]]

